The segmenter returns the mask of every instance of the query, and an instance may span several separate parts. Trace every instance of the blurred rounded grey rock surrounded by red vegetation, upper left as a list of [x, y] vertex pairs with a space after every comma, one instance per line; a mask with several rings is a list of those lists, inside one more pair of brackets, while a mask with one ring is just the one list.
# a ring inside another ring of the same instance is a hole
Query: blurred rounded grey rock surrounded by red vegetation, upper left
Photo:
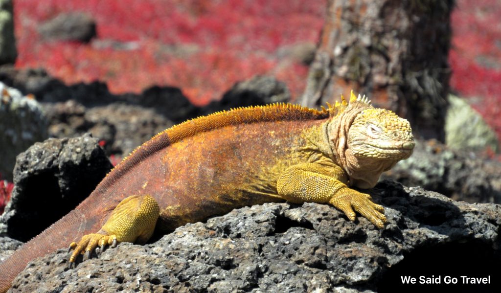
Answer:
[[39, 33], [47, 40], [88, 43], [97, 35], [96, 22], [82, 12], [63, 13], [45, 22], [39, 28]]

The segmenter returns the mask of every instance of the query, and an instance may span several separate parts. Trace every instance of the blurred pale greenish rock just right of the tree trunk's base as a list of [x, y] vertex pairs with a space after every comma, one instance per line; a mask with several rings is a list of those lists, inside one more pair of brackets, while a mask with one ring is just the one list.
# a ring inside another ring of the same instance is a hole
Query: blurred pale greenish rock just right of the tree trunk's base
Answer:
[[496, 135], [482, 116], [465, 100], [454, 95], [449, 95], [445, 141], [452, 149], [483, 151], [490, 148], [499, 151]]

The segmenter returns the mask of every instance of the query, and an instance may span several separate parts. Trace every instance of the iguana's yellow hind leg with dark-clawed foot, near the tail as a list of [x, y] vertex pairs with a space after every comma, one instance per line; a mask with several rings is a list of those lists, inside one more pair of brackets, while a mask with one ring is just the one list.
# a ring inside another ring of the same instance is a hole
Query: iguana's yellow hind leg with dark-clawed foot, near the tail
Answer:
[[156, 200], [150, 195], [132, 195], [122, 200], [111, 212], [101, 230], [82, 237], [77, 243], [70, 244], [74, 249], [70, 266], [77, 256], [85, 251], [86, 257], [98, 245], [103, 251], [105, 245], [116, 246], [118, 242], [144, 243], [153, 234], [160, 213]]

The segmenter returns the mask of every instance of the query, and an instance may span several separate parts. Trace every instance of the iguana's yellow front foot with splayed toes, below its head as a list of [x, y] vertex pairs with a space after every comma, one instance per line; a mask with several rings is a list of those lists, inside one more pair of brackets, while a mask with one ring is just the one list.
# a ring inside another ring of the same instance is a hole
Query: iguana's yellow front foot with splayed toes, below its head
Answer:
[[378, 228], [383, 228], [386, 223], [384, 207], [372, 202], [369, 194], [345, 188], [336, 193], [329, 203], [342, 210], [351, 221], [356, 219], [357, 211]]

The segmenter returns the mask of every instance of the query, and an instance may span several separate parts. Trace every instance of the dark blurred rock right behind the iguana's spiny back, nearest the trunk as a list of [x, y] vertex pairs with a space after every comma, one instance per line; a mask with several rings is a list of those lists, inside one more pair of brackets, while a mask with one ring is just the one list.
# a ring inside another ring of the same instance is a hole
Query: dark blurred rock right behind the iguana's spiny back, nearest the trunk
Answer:
[[236, 83], [224, 93], [220, 101], [209, 103], [202, 112], [210, 114], [237, 107], [285, 103], [290, 99], [291, 93], [285, 83], [270, 76], [256, 76]]

